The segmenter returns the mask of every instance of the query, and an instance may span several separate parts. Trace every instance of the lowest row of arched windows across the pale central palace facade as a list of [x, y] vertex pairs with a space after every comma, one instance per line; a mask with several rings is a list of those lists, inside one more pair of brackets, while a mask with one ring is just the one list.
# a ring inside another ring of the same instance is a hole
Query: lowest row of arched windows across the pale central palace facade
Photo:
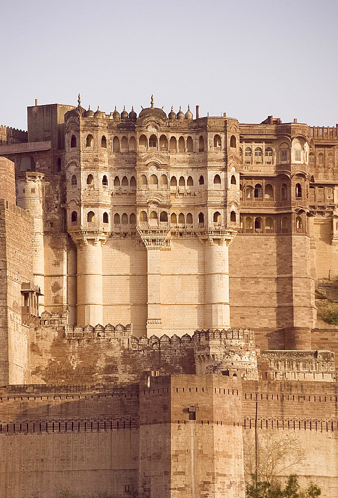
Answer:
[[[156, 211], [151, 211], [149, 215], [149, 220], [151, 224], [158, 224], [158, 213]], [[129, 218], [127, 213], [123, 213], [122, 216], [120, 216], [119, 213], [115, 213], [114, 217], [114, 225], [135, 225], [136, 224], [136, 215], [135, 213], [132, 213]], [[234, 211], [231, 211], [230, 213], [230, 221], [233, 223], [236, 223], [236, 213]], [[72, 224], [77, 223], [77, 212], [73, 211], [71, 214], [71, 222]], [[89, 211], [87, 213], [87, 223], [95, 223], [95, 213], [94, 211]], [[103, 223], [109, 223], [109, 216], [108, 213], [103, 213]], [[141, 211], [140, 212], [140, 223], [148, 223], [148, 214], [146, 211]], [[167, 211], [162, 211], [160, 213], [160, 223], [168, 223], [168, 213]], [[218, 226], [221, 223], [221, 214], [219, 211], [215, 211], [213, 214], [213, 223], [214, 225]], [[177, 225], [178, 226], [191, 226], [193, 224], [193, 218], [191, 213], [187, 213], [185, 216], [183, 213], [171, 213], [170, 215], [170, 224], [171, 225]], [[204, 214], [199, 213], [198, 214], [198, 225], [204, 225]]]

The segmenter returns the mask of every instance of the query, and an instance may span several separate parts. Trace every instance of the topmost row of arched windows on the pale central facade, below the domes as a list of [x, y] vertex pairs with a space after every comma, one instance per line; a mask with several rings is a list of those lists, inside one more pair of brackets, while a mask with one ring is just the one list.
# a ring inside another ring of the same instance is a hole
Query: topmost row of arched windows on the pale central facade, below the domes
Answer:
[[[77, 140], [76, 136], [72, 135], [70, 140], [71, 148], [76, 147]], [[86, 147], [93, 148], [94, 147], [94, 136], [89, 133], [86, 137]], [[142, 134], [139, 138], [139, 147], [140, 149], [160, 149], [160, 150], [168, 150], [168, 138], [166, 135], [161, 135], [160, 139], [158, 139], [157, 135], [152, 134], [149, 139], [146, 135]], [[216, 134], [213, 138], [213, 147], [215, 150], [222, 150], [222, 140], [220, 135]], [[231, 135], [230, 137], [230, 147], [236, 147], [236, 137], [235, 135]], [[101, 148], [107, 148], [107, 138], [105, 135], [101, 137]], [[136, 138], [135, 136], [131, 136], [128, 138], [127, 136], [122, 136], [120, 138], [115, 135], [112, 143], [113, 152], [127, 152], [128, 150], [135, 151], [136, 150]], [[194, 150], [193, 140], [191, 136], [188, 136], [186, 139], [183, 136], [177, 138], [175, 136], [171, 136], [169, 139], [169, 151], [170, 152], [193, 152]], [[200, 135], [198, 139], [198, 151], [204, 152], [204, 137]]]

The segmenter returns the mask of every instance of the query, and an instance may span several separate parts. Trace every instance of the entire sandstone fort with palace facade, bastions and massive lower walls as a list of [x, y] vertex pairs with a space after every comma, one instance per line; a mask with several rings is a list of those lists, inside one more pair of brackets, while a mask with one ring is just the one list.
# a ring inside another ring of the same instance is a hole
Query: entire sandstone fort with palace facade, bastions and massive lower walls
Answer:
[[337, 498], [338, 125], [27, 117], [0, 126], [0, 497], [244, 498], [273, 433]]

